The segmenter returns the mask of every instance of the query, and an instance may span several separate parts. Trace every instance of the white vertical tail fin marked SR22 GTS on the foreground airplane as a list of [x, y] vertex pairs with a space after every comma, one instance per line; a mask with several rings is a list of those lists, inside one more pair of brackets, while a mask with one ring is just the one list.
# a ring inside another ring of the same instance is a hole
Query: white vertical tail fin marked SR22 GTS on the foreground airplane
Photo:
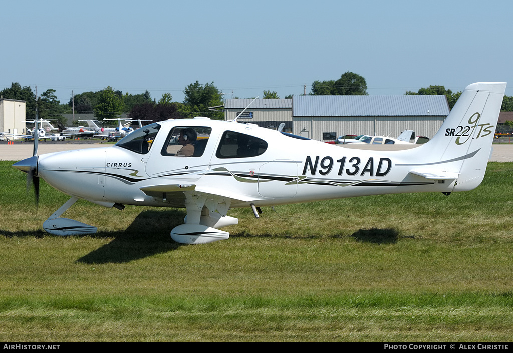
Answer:
[[459, 173], [453, 191], [472, 190], [481, 184], [505, 90], [505, 82], [468, 85], [440, 130], [424, 145], [438, 159], [432, 164]]

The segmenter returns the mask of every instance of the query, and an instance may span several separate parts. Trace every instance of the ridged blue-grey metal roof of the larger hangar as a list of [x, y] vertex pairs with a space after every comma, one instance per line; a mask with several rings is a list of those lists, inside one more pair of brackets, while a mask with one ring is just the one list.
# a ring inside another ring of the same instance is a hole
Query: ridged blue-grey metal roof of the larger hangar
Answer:
[[292, 116], [448, 115], [445, 95], [294, 95]]

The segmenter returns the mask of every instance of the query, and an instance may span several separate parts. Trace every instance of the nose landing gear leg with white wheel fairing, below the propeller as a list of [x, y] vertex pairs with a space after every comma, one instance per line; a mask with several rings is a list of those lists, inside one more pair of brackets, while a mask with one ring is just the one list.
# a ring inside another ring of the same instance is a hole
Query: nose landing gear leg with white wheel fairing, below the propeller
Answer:
[[67, 218], [59, 218], [68, 208], [70, 208], [78, 198], [72, 197], [64, 205], [56, 210], [48, 219], [43, 223], [43, 229], [48, 233], [55, 236], [76, 236], [78, 234], [94, 234], [98, 230], [96, 227], [88, 224], [70, 220]]

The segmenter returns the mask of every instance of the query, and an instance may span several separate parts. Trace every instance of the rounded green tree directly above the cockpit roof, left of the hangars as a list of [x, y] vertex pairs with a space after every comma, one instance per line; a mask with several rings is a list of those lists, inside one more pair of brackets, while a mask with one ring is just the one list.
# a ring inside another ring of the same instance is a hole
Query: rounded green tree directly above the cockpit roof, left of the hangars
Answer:
[[223, 112], [214, 112], [209, 107], [223, 105], [221, 91], [214, 86], [214, 82], [200, 84], [198, 81], [190, 84], [184, 90], [184, 104], [180, 107], [181, 113], [186, 117], [207, 115], [213, 119], [223, 120]]

